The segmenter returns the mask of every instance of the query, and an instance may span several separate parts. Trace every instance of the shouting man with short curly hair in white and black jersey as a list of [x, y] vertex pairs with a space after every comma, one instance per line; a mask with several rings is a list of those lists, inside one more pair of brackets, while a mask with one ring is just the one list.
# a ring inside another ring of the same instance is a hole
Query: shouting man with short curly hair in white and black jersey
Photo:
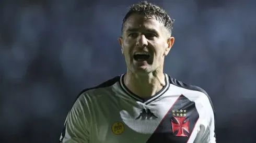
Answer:
[[130, 8], [119, 38], [126, 73], [78, 96], [61, 142], [216, 142], [207, 93], [164, 73], [172, 25], [156, 5]]

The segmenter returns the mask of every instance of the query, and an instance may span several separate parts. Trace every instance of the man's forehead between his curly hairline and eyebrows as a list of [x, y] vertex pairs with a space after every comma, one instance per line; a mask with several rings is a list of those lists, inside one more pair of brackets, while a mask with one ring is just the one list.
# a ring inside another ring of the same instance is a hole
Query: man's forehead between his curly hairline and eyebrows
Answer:
[[124, 31], [128, 29], [154, 29], [161, 31], [164, 27], [164, 23], [159, 22], [154, 17], [146, 17], [144, 15], [133, 14], [131, 15], [124, 24]]

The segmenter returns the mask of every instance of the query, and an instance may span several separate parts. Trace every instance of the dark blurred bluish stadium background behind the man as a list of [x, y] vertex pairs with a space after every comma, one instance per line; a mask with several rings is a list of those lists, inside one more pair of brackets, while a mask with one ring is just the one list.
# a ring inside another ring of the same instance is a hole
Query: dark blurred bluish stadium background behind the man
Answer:
[[[138, 1], [0, 2], [0, 142], [57, 142], [80, 90], [125, 72], [117, 38]], [[256, 140], [256, 1], [149, 1], [176, 19], [165, 72], [204, 88], [217, 142]]]

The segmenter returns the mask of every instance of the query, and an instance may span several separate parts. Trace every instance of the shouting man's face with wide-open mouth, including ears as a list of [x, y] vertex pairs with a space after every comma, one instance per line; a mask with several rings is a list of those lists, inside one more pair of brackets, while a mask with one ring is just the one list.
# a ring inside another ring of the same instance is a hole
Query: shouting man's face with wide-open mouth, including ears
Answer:
[[127, 19], [119, 38], [127, 68], [139, 73], [163, 68], [164, 58], [173, 42], [174, 37], [170, 36], [163, 23], [138, 14]]

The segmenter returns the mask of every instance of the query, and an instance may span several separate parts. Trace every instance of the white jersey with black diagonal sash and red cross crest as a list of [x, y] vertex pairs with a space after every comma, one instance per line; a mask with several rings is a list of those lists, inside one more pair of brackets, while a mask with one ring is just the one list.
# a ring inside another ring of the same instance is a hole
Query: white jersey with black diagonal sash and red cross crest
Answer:
[[84, 90], [67, 115], [60, 142], [216, 142], [206, 92], [165, 76], [166, 85], [149, 99], [133, 94], [124, 75]]

